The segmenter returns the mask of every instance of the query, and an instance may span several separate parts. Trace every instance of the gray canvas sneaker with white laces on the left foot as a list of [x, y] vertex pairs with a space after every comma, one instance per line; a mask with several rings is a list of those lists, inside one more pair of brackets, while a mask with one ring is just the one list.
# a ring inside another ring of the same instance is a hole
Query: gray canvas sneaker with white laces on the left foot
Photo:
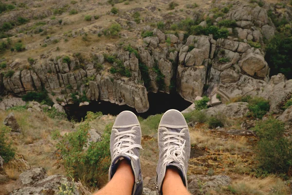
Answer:
[[117, 170], [119, 160], [127, 159], [135, 176], [132, 195], [142, 195], [143, 179], [139, 159], [141, 146], [141, 127], [136, 115], [130, 111], [121, 112], [113, 124], [110, 135], [111, 165], [109, 180]]

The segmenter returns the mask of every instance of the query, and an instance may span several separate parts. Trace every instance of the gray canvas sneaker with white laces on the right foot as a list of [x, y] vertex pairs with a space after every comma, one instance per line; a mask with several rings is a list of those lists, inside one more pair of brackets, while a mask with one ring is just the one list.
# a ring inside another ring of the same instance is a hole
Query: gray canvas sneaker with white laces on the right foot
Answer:
[[162, 194], [162, 184], [166, 168], [178, 168], [183, 184], [187, 189], [187, 167], [190, 157], [190, 134], [187, 123], [177, 110], [168, 110], [161, 118], [158, 127], [159, 160], [156, 169], [156, 189]]

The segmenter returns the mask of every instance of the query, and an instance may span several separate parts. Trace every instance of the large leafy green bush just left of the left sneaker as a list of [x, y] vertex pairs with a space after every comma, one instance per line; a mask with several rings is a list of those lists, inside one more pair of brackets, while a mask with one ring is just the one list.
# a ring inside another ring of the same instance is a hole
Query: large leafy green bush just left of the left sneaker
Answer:
[[[57, 143], [58, 155], [68, 176], [91, 187], [100, 187], [100, 179], [108, 175], [110, 167], [111, 124], [105, 128], [102, 140], [87, 145], [88, 122], [81, 124], [76, 132], [66, 134]], [[84, 147], [88, 147], [84, 150]]]

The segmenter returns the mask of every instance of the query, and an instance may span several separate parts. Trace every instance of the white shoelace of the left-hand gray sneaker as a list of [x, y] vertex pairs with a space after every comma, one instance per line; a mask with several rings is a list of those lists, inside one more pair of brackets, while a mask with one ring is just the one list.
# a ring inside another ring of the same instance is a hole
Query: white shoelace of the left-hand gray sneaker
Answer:
[[131, 130], [124, 132], [119, 132], [117, 129], [113, 128], [113, 130], [116, 131], [116, 133], [114, 134], [116, 136], [114, 139], [116, 143], [113, 145], [113, 157], [119, 155], [127, 155], [134, 158], [135, 160], [138, 160], [139, 157], [134, 155], [132, 149], [143, 148], [140, 144], [136, 144], [135, 141], [132, 139], [132, 137], [136, 137], [135, 135], [133, 135], [133, 133], [137, 132], [136, 130], [134, 130], [135, 127], [137, 126], [134, 126], [131, 128]]

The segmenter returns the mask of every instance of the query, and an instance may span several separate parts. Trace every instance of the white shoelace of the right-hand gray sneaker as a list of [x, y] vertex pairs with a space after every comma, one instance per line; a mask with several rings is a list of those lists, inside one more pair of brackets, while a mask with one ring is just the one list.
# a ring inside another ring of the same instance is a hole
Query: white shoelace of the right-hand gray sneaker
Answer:
[[[167, 130], [165, 127], [162, 127], [162, 129]], [[186, 128], [182, 129], [181, 132], [183, 132]], [[166, 151], [164, 154], [164, 161], [163, 161], [163, 166], [166, 166], [167, 164], [171, 162], [176, 162], [182, 166], [184, 169], [184, 162], [183, 160], [185, 157], [183, 156], [185, 154], [185, 151], [183, 148], [185, 147], [185, 140], [180, 137], [180, 136], [185, 136], [185, 133], [177, 133], [177, 132], [169, 132], [168, 130], [163, 132], [165, 136], [163, 140], [164, 141], [163, 145], [167, 143], [175, 143], [176, 145], [168, 145], [165, 146], [163, 149], [163, 152]], [[172, 139], [171, 139], [172, 138]]]

